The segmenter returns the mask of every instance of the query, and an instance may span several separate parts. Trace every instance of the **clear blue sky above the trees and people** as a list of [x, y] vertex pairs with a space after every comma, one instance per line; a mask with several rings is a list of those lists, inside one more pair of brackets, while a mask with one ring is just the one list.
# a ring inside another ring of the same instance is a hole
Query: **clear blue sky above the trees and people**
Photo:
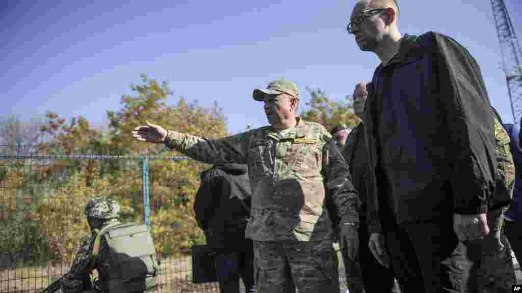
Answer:
[[[522, 3], [505, 0], [522, 37]], [[429, 4], [428, 4], [429, 3]], [[232, 133], [267, 124], [252, 90], [284, 77], [321, 87], [334, 100], [370, 80], [378, 59], [346, 32], [354, 0], [28, 1], [0, 4], [0, 116], [22, 120], [56, 111], [106, 123], [140, 74], [180, 95], [217, 100]], [[400, 0], [401, 33], [433, 30], [466, 46], [481, 66], [492, 104], [512, 122], [489, 0]]]

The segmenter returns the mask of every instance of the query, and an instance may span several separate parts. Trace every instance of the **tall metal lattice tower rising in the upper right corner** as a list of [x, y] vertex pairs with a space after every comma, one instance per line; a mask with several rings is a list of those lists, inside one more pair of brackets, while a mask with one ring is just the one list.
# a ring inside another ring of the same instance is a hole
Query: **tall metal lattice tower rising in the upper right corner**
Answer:
[[499, 35], [502, 69], [506, 77], [507, 93], [511, 103], [513, 123], [520, 122], [522, 115], [522, 52], [504, 0], [491, 0], [496, 32]]

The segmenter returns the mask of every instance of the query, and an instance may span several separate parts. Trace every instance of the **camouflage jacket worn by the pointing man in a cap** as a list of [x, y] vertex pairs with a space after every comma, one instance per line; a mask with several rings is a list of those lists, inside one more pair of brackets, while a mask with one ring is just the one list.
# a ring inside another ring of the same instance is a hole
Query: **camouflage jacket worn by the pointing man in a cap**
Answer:
[[247, 164], [252, 210], [245, 235], [253, 240], [331, 239], [332, 212], [359, 222], [348, 164], [320, 124], [298, 118], [282, 136], [265, 126], [221, 139], [169, 131], [165, 145], [208, 164]]

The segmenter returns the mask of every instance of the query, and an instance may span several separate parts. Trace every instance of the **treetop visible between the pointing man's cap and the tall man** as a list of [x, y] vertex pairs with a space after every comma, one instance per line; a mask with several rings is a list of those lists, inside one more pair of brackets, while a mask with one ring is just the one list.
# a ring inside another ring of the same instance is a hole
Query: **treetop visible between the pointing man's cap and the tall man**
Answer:
[[359, 124], [359, 118], [353, 114], [351, 95], [346, 95], [342, 101], [335, 101], [321, 88], [306, 90], [310, 93], [310, 102], [305, 103], [309, 108], [301, 110], [304, 120], [320, 123], [327, 130], [341, 123], [352, 128]]

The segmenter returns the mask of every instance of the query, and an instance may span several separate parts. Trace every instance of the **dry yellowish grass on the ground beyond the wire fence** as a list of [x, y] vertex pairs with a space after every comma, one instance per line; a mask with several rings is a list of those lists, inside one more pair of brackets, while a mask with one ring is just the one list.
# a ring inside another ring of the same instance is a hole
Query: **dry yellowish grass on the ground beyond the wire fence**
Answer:
[[[190, 256], [163, 259], [161, 274], [157, 277], [159, 292], [219, 292], [216, 283], [192, 284]], [[0, 271], [0, 293], [39, 292], [54, 279], [67, 272], [68, 264], [45, 267], [19, 267]], [[96, 276], [96, 272], [94, 273]]]

